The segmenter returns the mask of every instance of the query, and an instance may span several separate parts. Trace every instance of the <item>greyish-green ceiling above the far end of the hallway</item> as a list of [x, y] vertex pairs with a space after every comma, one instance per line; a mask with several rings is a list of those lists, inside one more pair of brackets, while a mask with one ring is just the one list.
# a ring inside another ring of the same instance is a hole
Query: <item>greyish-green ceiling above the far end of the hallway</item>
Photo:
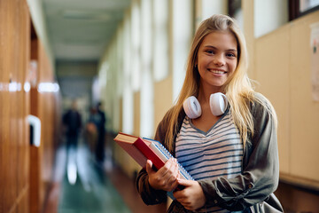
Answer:
[[130, 4], [131, 0], [43, 0], [55, 59], [100, 59]]

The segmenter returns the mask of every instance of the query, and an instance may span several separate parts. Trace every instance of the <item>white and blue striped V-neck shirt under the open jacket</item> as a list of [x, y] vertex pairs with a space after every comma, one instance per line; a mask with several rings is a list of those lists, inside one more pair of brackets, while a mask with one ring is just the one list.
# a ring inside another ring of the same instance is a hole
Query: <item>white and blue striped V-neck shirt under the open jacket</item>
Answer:
[[[175, 144], [177, 161], [195, 180], [231, 178], [242, 173], [243, 143], [233, 122], [230, 110], [204, 132], [198, 130], [185, 116]], [[228, 212], [219, 207], [200, 209], [198, 212]]]

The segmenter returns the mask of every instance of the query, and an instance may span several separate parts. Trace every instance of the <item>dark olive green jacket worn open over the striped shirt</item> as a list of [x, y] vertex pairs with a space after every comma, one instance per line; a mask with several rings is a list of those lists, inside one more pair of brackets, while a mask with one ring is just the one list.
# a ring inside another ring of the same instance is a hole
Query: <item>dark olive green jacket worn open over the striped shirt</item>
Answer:
[[[255, 95], [268, 106], [261, 94]], [[283, 212], [280, 202], [274, 195], [279, 181], [276, 125], [268, 109], [257, 101], [251, 104], [251, 113], [254, 119], [254, 134], [253, 137], [248, 135], [245, 143], [242, 174], [233, 178], [200, 180], [198, 183], [205, 193], [206, 205], [219, 206], [230, 211]], [[178, 131], [182, 127], [184, 117], [185, 113], [182, 110], [178, 119]], [[167, 121], [169, 120], [166, 114], [155, 135], [155, 139], [164, 146]], [[175, 138], [178, 131], [175, 132]], [[139, 172], [136, 188], [147, 205], [167, 201], [167, 192], [155, 190], [149, 185], [145, 170]], [[180, 203], [173, 201], [168, 212], [191, 211], [183, 209]]]

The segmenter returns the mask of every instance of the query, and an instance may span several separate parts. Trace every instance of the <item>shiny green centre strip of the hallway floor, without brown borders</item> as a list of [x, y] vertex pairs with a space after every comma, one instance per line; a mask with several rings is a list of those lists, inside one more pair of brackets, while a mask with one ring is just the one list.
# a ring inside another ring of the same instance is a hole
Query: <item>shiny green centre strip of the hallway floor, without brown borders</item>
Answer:
[[130, 212], [102, 168], [91, 161], [86, 146], [79, 146], [77, 152], [70, 151], [67, 155], [66, 175], [62, 182], [58, 212]]

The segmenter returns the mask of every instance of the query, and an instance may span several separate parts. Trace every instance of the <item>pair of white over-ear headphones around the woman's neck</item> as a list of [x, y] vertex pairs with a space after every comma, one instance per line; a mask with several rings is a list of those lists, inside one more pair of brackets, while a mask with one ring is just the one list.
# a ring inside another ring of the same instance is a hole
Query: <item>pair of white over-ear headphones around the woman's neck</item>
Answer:
[[[216, 92], [210, 95], [209, 106], [212, 114], [220, 116], [225, 113], [228, 106], [228, 100], [222, 92]], [[185, 99], [183, 102], [183, 109], [185, 114], [191, 119], [198, 118], [201, 115], [201, 107], [195, 96]]]

